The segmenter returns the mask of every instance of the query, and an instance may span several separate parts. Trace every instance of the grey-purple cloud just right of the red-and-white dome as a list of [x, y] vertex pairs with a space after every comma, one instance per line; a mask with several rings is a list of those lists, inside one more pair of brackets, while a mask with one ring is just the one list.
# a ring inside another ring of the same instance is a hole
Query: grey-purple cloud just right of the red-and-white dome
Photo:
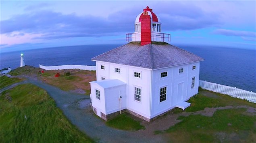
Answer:
[[173, 2], [158, 9], [163, 30], [194, 30], [223, 24], [220, 13], [206, 12], [191, 4]]

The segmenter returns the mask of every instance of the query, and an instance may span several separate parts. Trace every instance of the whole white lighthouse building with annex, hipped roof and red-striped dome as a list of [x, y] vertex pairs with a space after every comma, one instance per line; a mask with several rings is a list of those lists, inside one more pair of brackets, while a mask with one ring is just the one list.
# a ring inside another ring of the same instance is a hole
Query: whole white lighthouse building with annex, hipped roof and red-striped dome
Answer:
[[168, 44], [160, 18], [145, 8], [135, 20], [129, 42], [100, 54], [97, 81], [91, 84], [94, 113], [104, 120], [128, 112], [146, 121], [175, 107], [185, 109], [198, 93], [200, 61], [195, 54]]

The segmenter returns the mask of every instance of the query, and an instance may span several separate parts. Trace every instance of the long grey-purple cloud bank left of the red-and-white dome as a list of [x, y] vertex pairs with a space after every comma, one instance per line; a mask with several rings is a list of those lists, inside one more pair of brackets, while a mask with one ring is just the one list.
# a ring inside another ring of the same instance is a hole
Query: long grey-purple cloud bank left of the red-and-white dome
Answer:
[[[119, 17], [117, 17], [119, 18]], [[123, 18], [125, 19], [125, 18]], [[21, 14], [9, 20], [2, 20], [1, 34], [14, 35], [13, 32], [41, 34], [41, 39], [54, 39], [82, 36], [112, 36], [133, 29], [133, 22], [107, 19], [96, 16], [77, 16], [41, 10]], [[110, 34], [111, 33], [111, 34]]]

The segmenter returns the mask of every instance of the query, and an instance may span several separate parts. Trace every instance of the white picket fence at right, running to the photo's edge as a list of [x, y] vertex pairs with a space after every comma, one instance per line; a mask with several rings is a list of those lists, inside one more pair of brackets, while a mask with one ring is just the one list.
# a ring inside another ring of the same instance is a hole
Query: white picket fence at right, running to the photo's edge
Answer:
[[201, 80], [199, 80], [199, 87], [201, 87], [202, 89], [206, 89], [208, 91], [225, 94], [231, 97], [244, 99], [252, 103], [256, 103], [256, 93], [252, 91], [246, 91], [243, 89], [238, 89], [236, 87], [229, 87], [227, 85], [221, 85]]

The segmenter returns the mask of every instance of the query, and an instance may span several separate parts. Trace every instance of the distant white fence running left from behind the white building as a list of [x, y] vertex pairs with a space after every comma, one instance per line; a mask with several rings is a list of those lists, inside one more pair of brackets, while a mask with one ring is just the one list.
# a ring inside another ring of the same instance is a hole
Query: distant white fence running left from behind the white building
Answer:
[[96, 66], [84, 66], [84, 65], [61, 65], [61, 66], [43, 66], [39, 64], [40, 68], [45, 70], [64, 70], [64, 69], [80, 69], [80, 70], [96, 70]]

